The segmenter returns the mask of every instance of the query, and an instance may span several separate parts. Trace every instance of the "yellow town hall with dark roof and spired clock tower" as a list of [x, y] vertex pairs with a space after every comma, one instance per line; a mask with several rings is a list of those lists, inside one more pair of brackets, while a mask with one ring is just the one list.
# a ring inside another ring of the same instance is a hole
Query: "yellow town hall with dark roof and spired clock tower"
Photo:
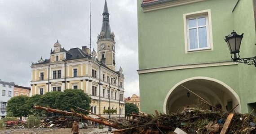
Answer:
[[87, 46], [65, 50], [57, 41], [50, 59], [41, 57], [38, 63], [32, 63], [31, 96], [82, 89], [91, 97], [93, 113], [108, 117], [103, 110], [110, 105], [110, 109], [117, 110], [111, 117], [124, 117], [124, 75], [121, 67], [115, 71], [115, 35], [110, 31], [106, 1], [102, 15], [97, 52]]

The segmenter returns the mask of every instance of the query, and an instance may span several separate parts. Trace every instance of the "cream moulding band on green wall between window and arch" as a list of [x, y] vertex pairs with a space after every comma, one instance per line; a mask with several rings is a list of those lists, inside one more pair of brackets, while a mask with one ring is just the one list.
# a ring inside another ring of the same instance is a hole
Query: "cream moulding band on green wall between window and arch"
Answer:
[[138, 71], [138, 74], [145, 74], [145, 73], [158, 72], [158, 71], [172, 71], [172, 70], [181, 70], [181, 69], [229, 66], [229, 65], [238, 65], [238, 63], [234, 63], [233, 61], [216, 62], [216, 63], [198, 63], [198, 64], [187, 64], [187, 65], [177, 65], [177, 66], [169, 66], [169, 67], [141, 69], [141, 70], [137, 70], [137, 71]]

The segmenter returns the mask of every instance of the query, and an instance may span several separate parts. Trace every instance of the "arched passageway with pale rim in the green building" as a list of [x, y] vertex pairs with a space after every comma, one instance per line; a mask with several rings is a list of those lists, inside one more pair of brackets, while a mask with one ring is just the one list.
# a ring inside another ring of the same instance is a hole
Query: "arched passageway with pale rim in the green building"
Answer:
[[187, 93], [189, 91], [181, 85], [195, 92], [211, 105], [224, 111], [228, 111], [239, 104], [234, 110], [241, 113], [240, 99], [237, 93], [227, 84], [209, 77], [192, 77], [182, 80], [171, 87], [164, 100], [164, 113], [181, 113], [185, 107], [210, 109], [208, 105], [201, 103], [199, 98], [193, 93], [190, 93], [188, 97]]

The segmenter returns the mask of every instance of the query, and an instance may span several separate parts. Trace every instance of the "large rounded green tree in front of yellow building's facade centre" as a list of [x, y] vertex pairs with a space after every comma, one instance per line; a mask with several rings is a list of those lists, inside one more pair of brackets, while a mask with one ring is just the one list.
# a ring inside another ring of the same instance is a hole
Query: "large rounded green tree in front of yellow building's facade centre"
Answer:
[[[90, 97], [81, 89], [66, 89], [64, 92], [59, 92], [55, 101], [56, 108], [66, 111], [71, 111], [71, 109], [76, 109], [76, 107], [90, 110], [90, 103]], [[82, 110], [76, 111], [88, 114]]]

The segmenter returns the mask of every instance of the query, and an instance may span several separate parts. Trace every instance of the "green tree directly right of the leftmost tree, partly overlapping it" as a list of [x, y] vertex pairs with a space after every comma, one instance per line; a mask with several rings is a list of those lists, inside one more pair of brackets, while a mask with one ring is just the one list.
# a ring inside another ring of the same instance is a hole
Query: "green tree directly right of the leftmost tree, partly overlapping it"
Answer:
[[28, 98], [25, 102], [25, 107], [28, 110], [29, 115], [31, 114], [40, 114], [42, 110], [34, 108], [34, 105], [40, 105], [40, 98], [42, 95], [36, 94]]

